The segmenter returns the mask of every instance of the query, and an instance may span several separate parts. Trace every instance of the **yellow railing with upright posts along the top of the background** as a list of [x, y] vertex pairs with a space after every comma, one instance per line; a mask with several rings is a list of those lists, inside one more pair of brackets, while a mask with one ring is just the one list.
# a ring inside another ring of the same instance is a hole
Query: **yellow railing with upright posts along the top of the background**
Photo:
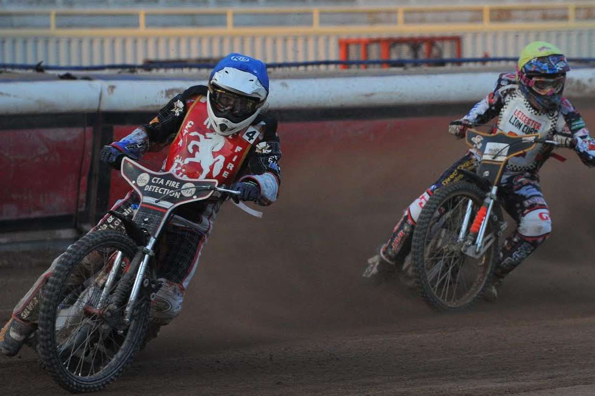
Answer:
[[[46, 15], [45, 27], [27, 17]], [[169, 18], [203, 18], [170, 26]], [[126, 27], [116, 27], [114, 18]], [[161, 18], [162, 17], [162, 18]], [[101, 26], [97, 21], [104, 18]], [[126, 19], [127, 18], [127, 19]], [[165, 18], [165, 19], [164, 19]], [[206, 19], [205, 19], [206, 18]], [[111, 19], [109, 21], [108, 19]], [[208, 19], [208, 20], [207, 20]], [[93, 24], [93, 20], [95, 23]], [[156, 23], [158, 21], [158, 23]], [[86, 23], [89, 23], [88, 25]], [[7, 25], [11, 25], [7, 27]], [[288, 24], [292, 24], [288, 26]], [[92, 26], [89, 26], [92, 25]], [[111, 25], [111, 26], [108, 26]], [[0, 10], [0, 38], [23, 36], [180, 36], [436, 33], [595, 28], [595, 2], [374, 8], [167, 8], [143, 10]]]

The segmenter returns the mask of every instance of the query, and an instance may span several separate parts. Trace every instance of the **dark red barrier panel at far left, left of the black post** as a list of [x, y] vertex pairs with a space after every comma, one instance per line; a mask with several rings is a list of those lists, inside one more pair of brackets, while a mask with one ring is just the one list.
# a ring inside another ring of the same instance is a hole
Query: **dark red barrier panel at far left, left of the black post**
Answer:
[[79, 208], [84, 208], [91, 131], [91, 128], [2, 131], [0, 219], [72, 215], [79, 191]]

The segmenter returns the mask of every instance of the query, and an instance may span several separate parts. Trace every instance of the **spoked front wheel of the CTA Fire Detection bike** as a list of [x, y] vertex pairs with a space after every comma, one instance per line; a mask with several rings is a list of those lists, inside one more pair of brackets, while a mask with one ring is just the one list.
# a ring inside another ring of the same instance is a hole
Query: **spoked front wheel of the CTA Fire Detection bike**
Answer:
[[[40, 304], [39, 351], [55, 381], [68, 391], [107, 386], [131, 362], [145, 337], [148, 298], [139, 296], [130, 323], [123, 320], [139, 260], [134, 259], [136, 251], [136, 244], [121, 232], [91, 232], [68, 247], [48, 279]], [[121, 261], [108, 281], [118, 253]], [[104, 293], [106, 285], [111, 287]]]

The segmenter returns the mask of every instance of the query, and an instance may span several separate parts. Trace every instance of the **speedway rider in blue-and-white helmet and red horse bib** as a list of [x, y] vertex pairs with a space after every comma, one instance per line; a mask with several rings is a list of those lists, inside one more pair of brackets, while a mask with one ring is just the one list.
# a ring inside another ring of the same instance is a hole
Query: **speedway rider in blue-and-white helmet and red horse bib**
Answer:
[[[165, 168], [180, 177], [217, 179], [239, 190], [234, 200], [270, 205], [277, 199], [281, 158], [277, 121], [261, 114], [268, 97], [265, 64], [241, 54], [223, 58], [209, 77], [208, 86], [192, 86], [176, 95], [148, 124], [120, 142], [105, 146], [101, 161], [119, 169], [124, 156], [139, 159], [147, 151], [170, 144]], [[181, 310], [184, 291], [195, 273], [202, 247], [225, 196], [181, 206], [167, 226], [158, 278], [162, 281], [151, 304], [148, 337], [155, 337]], [[112, 210], [133, 215], [139, 197], [132, 191]], [[106, 215], [94, 230], [124, 230], [121, 221]], [[54, 263], [57, 261], [54, 260]], [[34, 338], [42, 288], [52, 266], [35, 282], [0, 332], [0, 351], [18, 353]]]

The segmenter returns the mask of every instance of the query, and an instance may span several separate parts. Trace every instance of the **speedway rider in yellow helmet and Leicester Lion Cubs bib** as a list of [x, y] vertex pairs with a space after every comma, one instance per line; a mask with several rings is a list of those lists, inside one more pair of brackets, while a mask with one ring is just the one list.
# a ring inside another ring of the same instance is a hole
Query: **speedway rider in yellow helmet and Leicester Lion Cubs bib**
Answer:
[[[530, 43], [521, 52], [516, 74], [500, 74], [493, 92], [459, 122], [453, 122], [449, 133], [461, 139], [471, 125], [484, 124], [497, 117], [499, 130], [516, 135], [538, 133], [544, 139], [555, 140], [561, 147], [574, 149], [585, 165], [595, 166], [595, 140], [589, 135], [581, 115], [562, 98], [569, 70], [558, 48], [546, 42]], [[550, 145], [538, 144], [531, 152], [511, 158], [504, 169], [499, 197], [518, 227], [506, 238], [499, 252], [494, 280], [484, 294], [488, 301], [496, 300], [502, 279], [527, 259], [552, 230], [549, 208], [537, 175], [541, 165], [550, 156], [556, 156], [552, 149]], [[404, 275], [411, 276], [408, 254], [424, 203], [437, 188], [462, 178], [458, 169], [475, 169], [477, 159], [474, 152], [466, 153], [405, 209], [380, 253], [368, 259], [362, 275], [368, 282], [380, 283], [392, 276], [397, 267], [403, 269]]]

